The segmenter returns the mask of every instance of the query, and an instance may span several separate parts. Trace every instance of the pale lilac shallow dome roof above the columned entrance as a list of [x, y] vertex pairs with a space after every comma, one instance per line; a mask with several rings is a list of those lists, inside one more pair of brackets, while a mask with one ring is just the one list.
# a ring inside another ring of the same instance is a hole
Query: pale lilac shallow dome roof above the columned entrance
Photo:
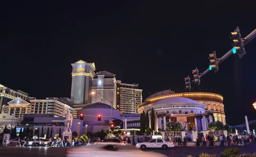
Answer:
[[157, 101], [153, 105], [158, 104], [172, 104], [172, 103], [187, 103], [187, 104], [200, 104], [197, 101], [191, 100], [189, 98], [183, 98], [183, 97], [171, 97], [171, 98], [164, 98], [160, 101]]

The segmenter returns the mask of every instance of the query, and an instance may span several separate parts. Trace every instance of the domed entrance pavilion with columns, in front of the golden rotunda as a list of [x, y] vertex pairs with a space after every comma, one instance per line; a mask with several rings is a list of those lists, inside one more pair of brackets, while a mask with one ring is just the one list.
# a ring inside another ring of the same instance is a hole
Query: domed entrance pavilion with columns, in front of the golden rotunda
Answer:
[[[150, 99], [150, 101], [147, 101]], [[155, 114], [155, 130], [159, 128], [166, 131], [166, 122], [180, 122], [185, 130], [208, 130], [208, 123], [213, 121], [212, 110], [207, 105], [201, 104], [189, 98], [178, 96], [162, 96], [160, 99], [147, 98], [138, 106], [139, 112], [149, 112], [151, 121], [151, 109]], [[151, 127], [151, 122], [149, 123]]]

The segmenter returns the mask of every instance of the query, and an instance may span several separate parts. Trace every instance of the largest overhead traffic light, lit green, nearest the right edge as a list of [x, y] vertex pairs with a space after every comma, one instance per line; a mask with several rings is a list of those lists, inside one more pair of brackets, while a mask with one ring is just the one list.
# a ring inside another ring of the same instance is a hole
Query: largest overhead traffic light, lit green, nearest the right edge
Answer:
[[230, 33], [230, 39], [231, 46], [233, 47], [232, 52], [235, 54], [237, 53], [239, 58], [242, 58], [246, 54], [246, 51], [244, 49], [244, 44], [242, 42], [241, 33], [239, 30], [239, 27], [236, 28], [236, 30], [232, 33]]

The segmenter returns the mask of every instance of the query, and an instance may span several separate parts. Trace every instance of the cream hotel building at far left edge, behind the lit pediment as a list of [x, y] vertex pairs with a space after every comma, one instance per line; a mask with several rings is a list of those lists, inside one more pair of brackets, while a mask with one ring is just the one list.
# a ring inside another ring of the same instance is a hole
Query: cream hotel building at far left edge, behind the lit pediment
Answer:
[[20, 97], [26, 101], [29, 101], [29, 94], [22, 92], [20, 90], [12, 90], [8, 87], [3, 86], [0, 84], [0, 111], [2, 111], [3, 105], [7, 105], [9, 101]]

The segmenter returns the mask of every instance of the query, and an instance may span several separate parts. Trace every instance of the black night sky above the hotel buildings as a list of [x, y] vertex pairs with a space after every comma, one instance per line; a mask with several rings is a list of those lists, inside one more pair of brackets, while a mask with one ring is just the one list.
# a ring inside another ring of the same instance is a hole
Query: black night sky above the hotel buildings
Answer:
[[[139, 84], [143, 97], [181, 92], [191, 70], [208, 68], [207, 54], [215, 50], [220, 58], [232, 48], [229, 33], [237, 26], [243, 37], [256, 28], [253, 1], [40, 2], [0, 4], [0, 84], [37, 98], [70, 97], [71, 63], [80, 59]], [[256, 119], [253, 48], [256, 39], [242, 59], [233, 55], [201, 78], [201, 89], [224, 96], [230, 125], [243, 123], [244, 115]]]

